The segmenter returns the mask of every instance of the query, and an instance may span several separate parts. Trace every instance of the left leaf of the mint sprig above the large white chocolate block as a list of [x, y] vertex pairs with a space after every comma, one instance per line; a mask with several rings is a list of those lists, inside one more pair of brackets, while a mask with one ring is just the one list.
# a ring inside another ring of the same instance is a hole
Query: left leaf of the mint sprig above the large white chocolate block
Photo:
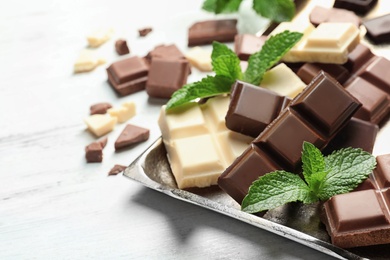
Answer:
[[235, 80], [223, 76], [207, 76], [201, 81], [184, 85], [173, 93], [166, 105], [166, 110], [189, 103], [197, 98], [206, 98], [230, 93], [231, 85]]

